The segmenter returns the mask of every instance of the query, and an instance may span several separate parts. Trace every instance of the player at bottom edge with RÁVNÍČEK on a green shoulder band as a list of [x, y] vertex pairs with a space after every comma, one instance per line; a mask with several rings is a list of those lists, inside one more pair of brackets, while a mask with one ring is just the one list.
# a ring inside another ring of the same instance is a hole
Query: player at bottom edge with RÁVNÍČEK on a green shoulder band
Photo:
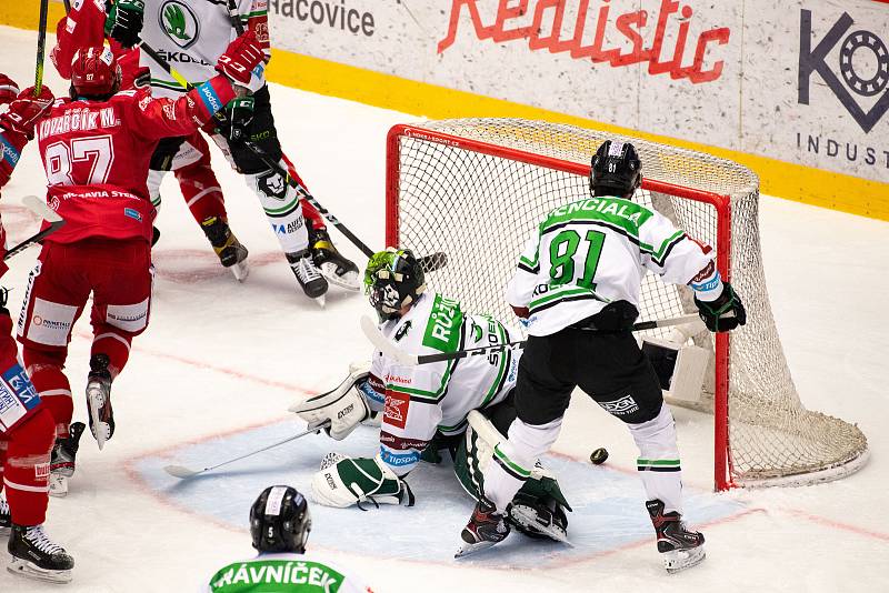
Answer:
[[360, 579], [306, 552], [312, 520], [306, 499], [290, 486], [269, 486], [250, 507], [256, 557], [219, 569], [206, 593], [373, 593]]

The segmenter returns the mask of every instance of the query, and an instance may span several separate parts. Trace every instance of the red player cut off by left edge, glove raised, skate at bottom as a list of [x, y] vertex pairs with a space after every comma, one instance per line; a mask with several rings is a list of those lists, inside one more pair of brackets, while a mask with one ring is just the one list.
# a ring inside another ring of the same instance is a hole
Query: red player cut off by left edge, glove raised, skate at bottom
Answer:
[[[18, 92], [18, 86], [0, 74], [0, 104], [9, 102], [11, 92]], [[0, 115], [0, 188], [9, 181], [34, 123], [51, 104], [52, 93], [46, 87], [40, 97], [27, 89], [13, 96], [9, 110]], [[4, 245], [6, 233], [0, 225], [0, 257], [6, 254]], [[0, 275], [6, 271], [6, 264], [0, 263]], [[74, 561], [43, 531], [56, 428], [47, 403], [19, 365], [6, 305], [7, 291], [0, 289], [0, 534], [10, 534], [10, 572], [68, 582]]]

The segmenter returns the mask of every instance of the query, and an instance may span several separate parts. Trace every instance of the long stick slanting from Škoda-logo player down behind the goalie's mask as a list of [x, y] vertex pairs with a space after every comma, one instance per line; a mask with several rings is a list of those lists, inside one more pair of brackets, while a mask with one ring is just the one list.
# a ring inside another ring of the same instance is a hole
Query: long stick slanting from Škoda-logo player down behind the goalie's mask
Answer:
[[[232, 23], [240, 22], [236, 17], [231, 16], [231, 11], [229, 11], [229, 16], [231, 18]], [[241, 27], [239, 29], [240, 30], [238, 34], [241, 34], [243, 28]], [[170, 63], [161, 54], [159, 54], [151, 46], [140, 40], [139, 48], [146, 53], [148, 53], [152, 60], [154, 60], [161, 68], [163, 68], [163, 70], [166, 70], [168, 74], [173, 77], [173, 79], [183, 88], [189, 90], [194, 88], [194, 86], [191, 82], [186, 80], [186, 78], [179, 71], [177, 71], [172, 66], [170, 66]], [[224, 112], [218, 111], [213, 117], [220, 123], [220, 125], [228, 124], [228, 118], [226, 117]], [[248, 149], [250, 149], [253, 152], [253, 154], [256, 154], [263, 163], [266, 163], [266, 165], [269, 169], [271, 169], [278, 175], [280, 175], [281, 179], [283, 179], [288, 185], [297, 190], [297, 193], [299, 193], [300, 198], [303, 198], [307, 202], [312, 204], [312, 207], [314, 207], [314, 209], [318, 210], [318, 212], [322, 217], [324, 217], [324, 219], [327, 219], [328, 222], [330, 222], [349, 241], [351, 241], [352, 244], [361, 251], [361, 253], [363, 253], [367, 258], [373, 257], [373, 250], [370, 249], [367, 245], [367, 243], [361, 241], [348, 227], [346, 227], [346, 224], [340, 222], [340, 220], [337, 217], [334, 217], [327, 208], [321, 205], [321, 203], [318, 202], [314, 195], [312, 195], [311, 192], [309, 192], [309, 190], [304, 185], [302, 185], [299, 181], [293, 179], [290, 175], [290, 172], [283, 167], [281, 167], [280, 163], [274, 162], [272, 158], [269, 157], [269, 154], [264, 150], [262, 150], [262, 148], [260, 148], [254, 142], [251, 142], [249, 140], [244, 141], [244, 145]], [[440, 251], [431, 253], [429, 255], [424, 255], [422, 258], [419, 258], [418, 260], [420, 262], [420, 265], [422, 265], [423, 270], [427, 272], [434, 272], [436, 270], [440, 270], [441, 268], [448, 264], [447, 254]]]

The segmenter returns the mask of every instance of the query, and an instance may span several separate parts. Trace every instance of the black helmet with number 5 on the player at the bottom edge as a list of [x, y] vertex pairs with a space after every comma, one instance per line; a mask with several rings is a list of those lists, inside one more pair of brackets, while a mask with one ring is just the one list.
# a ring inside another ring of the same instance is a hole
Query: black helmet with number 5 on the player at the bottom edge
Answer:
[[306, 551], [312, 519], [306, 497], [290, 486], [269, 486], [250, 507], [250, 535], [260, 552]]

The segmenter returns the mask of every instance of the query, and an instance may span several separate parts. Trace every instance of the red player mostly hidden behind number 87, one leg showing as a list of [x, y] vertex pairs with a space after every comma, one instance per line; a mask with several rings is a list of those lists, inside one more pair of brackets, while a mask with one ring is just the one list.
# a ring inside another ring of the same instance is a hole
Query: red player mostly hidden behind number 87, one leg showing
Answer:
[[[103, 3], [84, 0], [71, 2], [70, 12], [56, 27], [56, 47], [50, 53], [62, 78], [71, 79], [71, 60], [78, 50], [102, 44], [104, 21]], [[121, 69], [121, 90], [149, 87], [151, 76], [147, 68], [139, 67], [139, 49], [124, 49], [113, 39], [109, 43]], [[158, 163], [158, 167], [172, 169], [191, 215], [207, 235], [220, 262], [223, 267], [231, 268], [236, 278], [243, 280], [247, 275], [247, 248], [229, 228], [222, 190], [210, 165], [210, 147], [207, 140], [194, 131], [184, 139], [163, 139], [159, 145], [170, 142], [178, 142], [182, 149], [176, 158], [167, 163]], [[162, 174], [154, 175], [156, 179], [149, 179], [149, 193], [151, 202], [160, 209]]]

